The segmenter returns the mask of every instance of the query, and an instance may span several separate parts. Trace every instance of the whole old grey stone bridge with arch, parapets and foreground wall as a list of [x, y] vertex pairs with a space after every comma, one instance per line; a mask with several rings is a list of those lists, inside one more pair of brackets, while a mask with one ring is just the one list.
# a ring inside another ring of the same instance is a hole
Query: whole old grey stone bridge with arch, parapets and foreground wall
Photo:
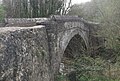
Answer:
[[6, 26], [0, 28], [0, 81], [54, 81], [72, 38], [80, 36], [86, 49], [97, 45], [98, 24], [78, 16], [7, 19]]

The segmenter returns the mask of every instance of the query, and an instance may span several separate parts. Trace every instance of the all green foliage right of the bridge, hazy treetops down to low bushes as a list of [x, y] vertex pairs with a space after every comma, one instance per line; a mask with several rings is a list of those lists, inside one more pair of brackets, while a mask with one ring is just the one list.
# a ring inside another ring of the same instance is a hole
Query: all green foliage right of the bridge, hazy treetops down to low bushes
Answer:
[[98, 37], [104, 45], [99, 55], [78, 57], [74, 62], [77, 81], [120, 81], [120, 0], [92, 0], [73, 5], [69, 15], [100, 22]]

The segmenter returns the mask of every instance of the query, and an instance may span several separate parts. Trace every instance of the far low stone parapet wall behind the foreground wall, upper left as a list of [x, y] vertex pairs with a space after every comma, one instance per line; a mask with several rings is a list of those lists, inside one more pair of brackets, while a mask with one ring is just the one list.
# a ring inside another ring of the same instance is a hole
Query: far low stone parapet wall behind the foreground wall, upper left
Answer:
[[11, 27], [11, 26], [30, 27], [30, 26], [35, 26], [38, 21], [44, 22], [46, 20], [48, 19], [47, 18], [6, 18], [5, 24], [6, 27]]

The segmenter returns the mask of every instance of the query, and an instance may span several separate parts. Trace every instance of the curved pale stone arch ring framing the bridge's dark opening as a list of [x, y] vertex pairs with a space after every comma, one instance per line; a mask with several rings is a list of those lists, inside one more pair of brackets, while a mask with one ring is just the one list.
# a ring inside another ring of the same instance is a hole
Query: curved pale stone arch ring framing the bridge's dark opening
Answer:
[[75, 36], [75, 35], [80, 35], [81, 38], [84, 40], [86, 47], [88, 46], [88, 31], [83, 31], [80, 29], [71, 29], [71, 30], [67, 30], [64, 32], [60, 32], [58, 34], [58, 38], [57, 38], [57, 47], [55, 48], [55, 53], [56, 53], [56, 63], [57, 63], [57, 67], [56, 67], [56, 72], [59, 70], [60, 68], [60, 63], [62, 61], [63, 58], [63, 54], [64, 51], [67, 47], [67, 45], [69, 44], [70, 40]]

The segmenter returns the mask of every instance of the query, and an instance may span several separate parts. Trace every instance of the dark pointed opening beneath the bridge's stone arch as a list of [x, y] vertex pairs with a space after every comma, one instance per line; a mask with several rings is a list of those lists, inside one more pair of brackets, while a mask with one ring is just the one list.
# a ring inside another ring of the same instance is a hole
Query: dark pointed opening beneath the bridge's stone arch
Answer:
[[66, 57], [70, 59], [75, 59], [76, 57], [79, 57], [81, 54], [84, 54], [86, 49], [87, 47], [83, 38], [79, 34], [76, 34], [69, 41], [64, 51], [63, 58]]

